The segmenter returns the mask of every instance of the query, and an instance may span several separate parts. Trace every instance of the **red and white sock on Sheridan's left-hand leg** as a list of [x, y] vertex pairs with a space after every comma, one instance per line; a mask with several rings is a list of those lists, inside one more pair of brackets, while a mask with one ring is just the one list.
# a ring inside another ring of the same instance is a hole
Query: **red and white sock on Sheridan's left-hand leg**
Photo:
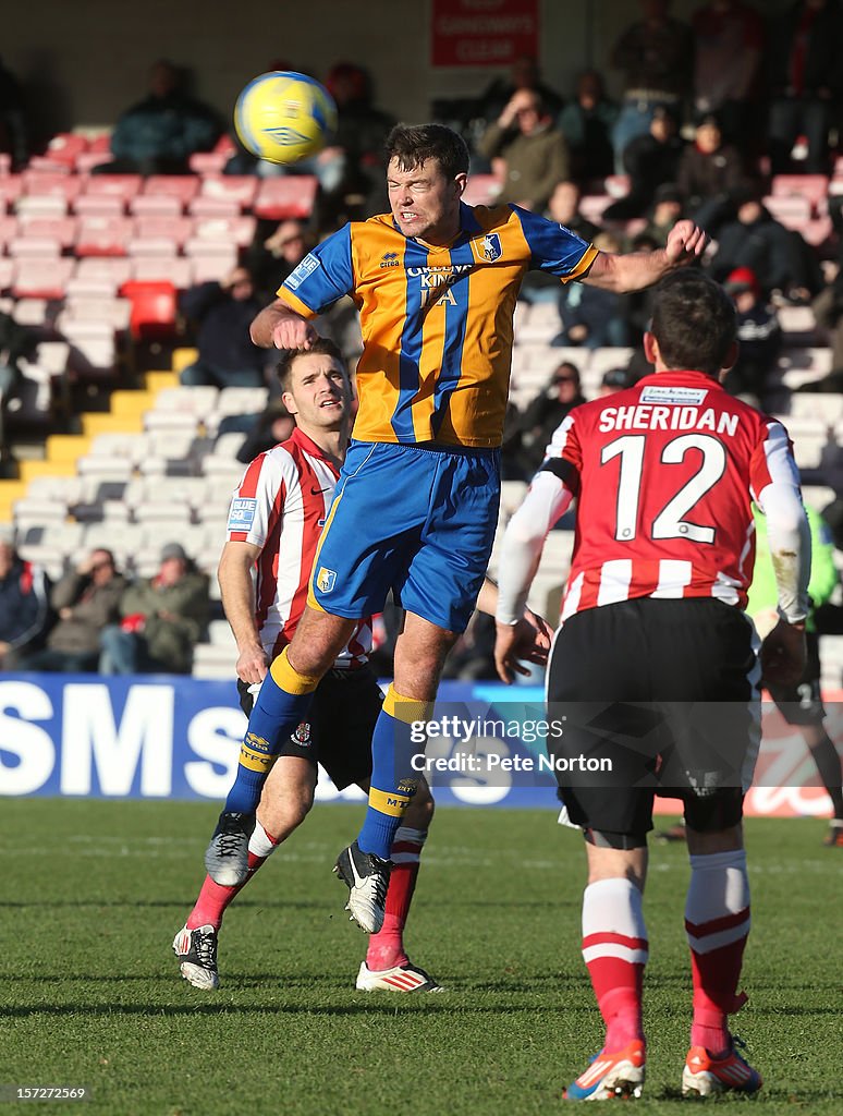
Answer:
[[647, 927], [641, 892], [631, 879], [599, 879], [582, 897], [582, 955], [605, 1022], [604, 1050], [643, 1039], [641, 985]]

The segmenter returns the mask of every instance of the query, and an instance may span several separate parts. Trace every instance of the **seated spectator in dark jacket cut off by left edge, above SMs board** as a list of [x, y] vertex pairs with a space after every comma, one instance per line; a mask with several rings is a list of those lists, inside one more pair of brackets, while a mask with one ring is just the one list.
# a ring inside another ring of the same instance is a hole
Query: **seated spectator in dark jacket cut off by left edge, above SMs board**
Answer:
[[49, 581], [23, 561], [10, 529], [0, 533], [0, 670], [17, 670], [19, 656], [38, 647], [50, 622]]

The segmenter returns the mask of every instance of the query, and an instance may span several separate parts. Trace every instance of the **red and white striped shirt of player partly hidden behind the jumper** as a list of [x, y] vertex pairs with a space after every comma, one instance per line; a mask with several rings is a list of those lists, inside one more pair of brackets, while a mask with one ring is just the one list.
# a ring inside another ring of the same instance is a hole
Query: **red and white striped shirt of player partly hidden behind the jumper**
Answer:
[[[255, 562], [255, 622], [274, 658], [304, 612], [319, 536], [328, 518], [339, 472], [307, 434], [259, 454], [234, 491], [229, 510], [231, 541], [261, 547]], [[371, 651], [371, 617], [361, 619], [335, 666], [361, 666]]]

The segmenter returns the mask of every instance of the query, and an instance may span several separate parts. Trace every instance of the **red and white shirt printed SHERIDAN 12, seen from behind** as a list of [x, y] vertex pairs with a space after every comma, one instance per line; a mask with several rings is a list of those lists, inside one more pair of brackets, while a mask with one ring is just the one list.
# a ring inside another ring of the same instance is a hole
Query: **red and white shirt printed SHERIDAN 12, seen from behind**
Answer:
[[498, 617], [516, 612], [523, 589], [507, 557], [517, 567], [520, 542], [539, 535], [541, 550], [574, 496], [563, 622], [636, 597], [716, 597], [745, 607], [755, 560], [752, 500], [763, 508], [774, 482], [798, 493], [784, 426], [702, 373], [660, 372], [582, 404], [556, 430], [507, 528]]

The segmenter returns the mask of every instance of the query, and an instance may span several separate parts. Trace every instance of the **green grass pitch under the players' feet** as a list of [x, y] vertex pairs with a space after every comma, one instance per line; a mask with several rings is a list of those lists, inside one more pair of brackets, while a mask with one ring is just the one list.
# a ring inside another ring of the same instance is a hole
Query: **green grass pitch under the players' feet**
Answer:
[[[171, 941], [215, 809], [6, 799], [0, 812], [0, 1085], [85, 1085], [83, 1113], [298, 1116], [552, 1113], [600, 1045], [579, 953], [581, 840], [551, 810], [442, 809], [408, 942], [440, 995], [358, 993], [364, 935], [330, 867], [360, 808], [317, 807], [229, 911], [222, 988]], [[750, 820], [753, 934], [737, 1030], [766, 1114], [840, 1114], [843, 850], [816, 820]], [[679, 1096], [689, 978], [681, 846], [653, 846], [648, 1083]], [[50, 1110], [67, 1110], [52, 1105]], [[0, 1105], [3, 1113], [43, 1105]], [[70, 1106], [70, 1110], [77, 1110]]]

